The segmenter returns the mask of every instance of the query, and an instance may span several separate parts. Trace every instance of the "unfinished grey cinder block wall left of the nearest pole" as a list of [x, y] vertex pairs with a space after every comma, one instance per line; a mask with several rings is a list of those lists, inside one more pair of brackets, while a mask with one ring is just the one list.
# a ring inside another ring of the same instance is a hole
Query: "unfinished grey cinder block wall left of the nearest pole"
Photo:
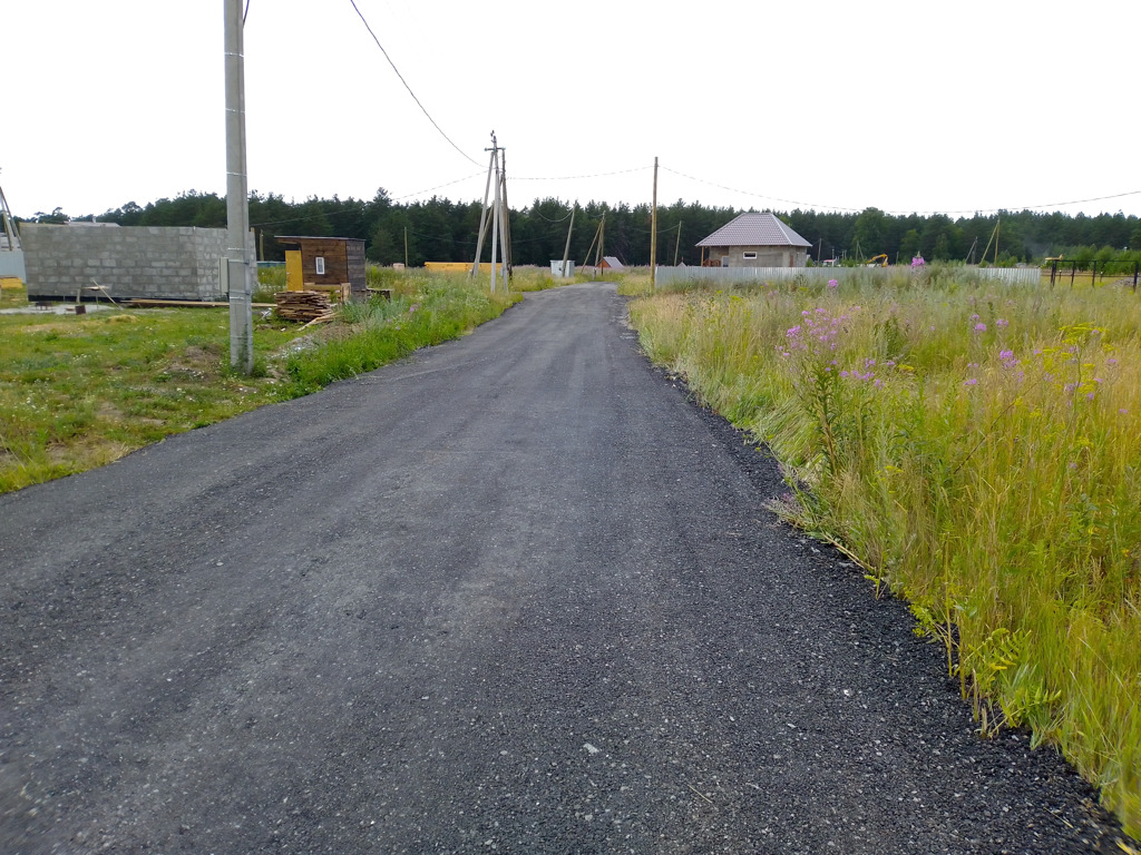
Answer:
[[226, 229], [23, 223], [19, 235], [30, 300], [74, 300], [92, 279], [115, 300], [226, 299]]

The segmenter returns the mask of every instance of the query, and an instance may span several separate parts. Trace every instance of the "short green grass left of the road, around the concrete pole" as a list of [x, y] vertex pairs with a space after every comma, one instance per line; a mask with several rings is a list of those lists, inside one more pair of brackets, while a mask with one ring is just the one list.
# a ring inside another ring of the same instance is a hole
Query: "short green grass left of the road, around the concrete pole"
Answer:
[[[277, 274], [261, 282], [273, 299]], [[0, 315], [0, 492], [110, 463], [147, 443], [321, 389], [499, 317], [520, 291], [553, 284], [524, 271], [510, 293], [423, 271], [370, 271], [391, 301], [348, 304], [302, 328], [254, 311], [254, 373], [229, 369], [226, 309], [111, 309]], [[284, 286], [282, 279], [281, 286]], [[26, 306], [6, 290], [3, 306]]]

